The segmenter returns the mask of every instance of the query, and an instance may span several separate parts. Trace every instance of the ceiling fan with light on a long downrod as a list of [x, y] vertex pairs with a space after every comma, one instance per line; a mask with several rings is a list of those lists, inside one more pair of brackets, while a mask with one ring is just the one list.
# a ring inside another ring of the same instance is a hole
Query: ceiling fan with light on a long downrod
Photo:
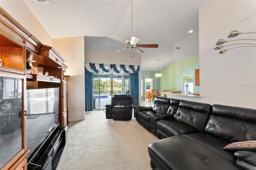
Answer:
[[[132, 1], [132, 0], [131, 0]], [[131, 6], [132, 6], [132, 3], [131, 3]], [[132, 36], [132, 38], [130, 40], [126, 40], [126, 43], [125, 44], [120, 44], [120, 43], [110, 43], [110, 42], [107, 42], [109, 44], [116, 44], [116, 45], [124, 45], [126, 46], [125, 48], [123, 49], [119, 49], [118, 51], [116, 52], [120, 52], [120, 51], [123, 51], [125, 49], [134, 49], [135, 51], [137, 51], [138, 53], [143, 53], [144, 51], [142, 51], [139, 47], [147, 47], [147, 48], [157, 48], [158, 47], [158, 44], [138, 44], [138, 41], [140, 40], [140, 38], [136, 37], [136, 36]]]

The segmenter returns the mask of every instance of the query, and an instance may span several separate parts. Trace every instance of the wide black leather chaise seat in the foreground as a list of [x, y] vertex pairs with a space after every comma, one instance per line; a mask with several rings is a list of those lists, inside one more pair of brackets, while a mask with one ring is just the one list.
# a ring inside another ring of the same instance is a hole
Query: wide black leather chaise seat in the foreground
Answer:
[[148, 146], [152, 162], [161, 170], [240, 170], [228, 142], [205, 133], [172, 136]]

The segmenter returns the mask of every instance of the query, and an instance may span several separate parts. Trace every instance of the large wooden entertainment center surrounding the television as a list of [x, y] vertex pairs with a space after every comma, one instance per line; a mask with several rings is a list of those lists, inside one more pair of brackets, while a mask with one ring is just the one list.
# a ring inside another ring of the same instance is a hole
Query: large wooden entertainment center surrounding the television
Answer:
[[[27, 148], [27, 89], [60, 88], [58, 132], [52, 132], [56, 139], [49, 141], [49, 137], [45, 143], [53, 142], [54, 148], [49, 148], [51, 156], [56, 152], [53, 152], [54, 149], [65, 144], [64, 131], [68, 123], [68, 106], [67, 82], [64, 79], [67, 66], [64, 61], [52, 47], [43, 45], [0, 7], [0, 168], [2, 170], [26, 170], [28, 167], [27, 155], [30, 150]], [[26, 68], [27, 62], [33, 66], [32, 73]], [[38, 67], [44, 67], [43, 74], [37, 73]], [[46, 72], [48, 75], [45, 74]], [[15, 138], [17, 147], [12, 145], [11, 141], [14, 140], [10, 138], [12, 136], [20, 136]], [[47, 161], [50, 161], [49, 158]]]

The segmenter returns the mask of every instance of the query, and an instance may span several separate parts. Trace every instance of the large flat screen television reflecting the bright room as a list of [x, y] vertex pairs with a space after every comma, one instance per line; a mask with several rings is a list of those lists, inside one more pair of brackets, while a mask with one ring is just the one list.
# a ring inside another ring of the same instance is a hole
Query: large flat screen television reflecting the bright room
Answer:
[[38, 145], [59, 125], [60, 88], [28, 89], [26, 99], [29, 161]]

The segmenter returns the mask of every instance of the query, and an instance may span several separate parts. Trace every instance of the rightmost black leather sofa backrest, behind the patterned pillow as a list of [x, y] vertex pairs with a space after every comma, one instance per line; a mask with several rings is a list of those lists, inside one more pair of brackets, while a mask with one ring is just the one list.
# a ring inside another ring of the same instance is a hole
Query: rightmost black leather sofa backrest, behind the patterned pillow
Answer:
[[256, 110], [212, 105], [204, 132], [228, 142], [256, 140]]

